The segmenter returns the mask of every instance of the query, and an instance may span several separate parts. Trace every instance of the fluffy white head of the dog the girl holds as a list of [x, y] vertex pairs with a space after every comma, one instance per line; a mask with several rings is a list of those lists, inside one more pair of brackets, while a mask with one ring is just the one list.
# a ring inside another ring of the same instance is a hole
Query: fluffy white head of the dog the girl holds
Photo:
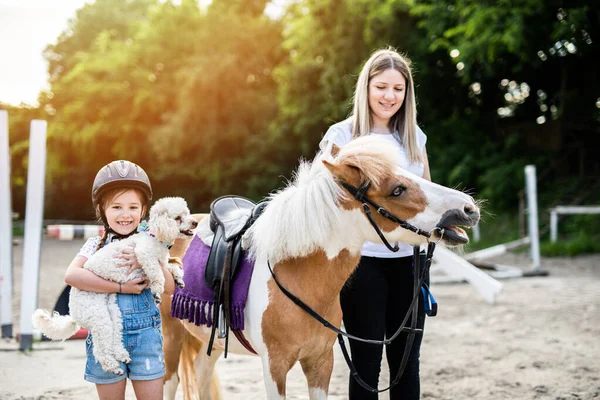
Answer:
[[158, 240], [173, 243], [178, 237], [192, 236], [198, 222], [190, 216], [183, 198], [163, 197], [150, 208], [148, 225]]

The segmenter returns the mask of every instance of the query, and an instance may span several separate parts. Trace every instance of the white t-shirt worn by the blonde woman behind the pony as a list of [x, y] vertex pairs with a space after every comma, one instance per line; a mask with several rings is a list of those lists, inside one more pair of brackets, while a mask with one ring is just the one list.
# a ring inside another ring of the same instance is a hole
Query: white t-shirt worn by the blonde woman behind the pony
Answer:
[[[321, 143], [319, 143], [321, 151], [331, 152], [331, 147], [333, 146], [333, 144], [336, 144], [341, 148], [344, 147], [347, 143], [349, 143], [352, 140], [351, 124], [351, 120], [347, 119], [345, 121], [338, 122], [337, 124], [332, 125], [325, 133], [325, 136], [323, 136], [323, 139], [321, 139]], [[425, 148], [425, 143], [427, 142], [427, 136], [418, 126], [415, 133], [417, 136], [417, 146], [419, 148], [419, 151], [423, 152], [423, 149]], [[407, 171], [410, 171], [417, 176], [423, 176], [423, 172], [425, 171], [425, 165], [421, 162], [415, 162], [411, 164], [408, 160], [406, 150], [400, 144], [398, 139], [394, 137], [394, 135], [380, 134], [374, 132], [372, 132], [371, 135], [376, 135], [389, 141], [390, 144], [398, 150], [400, 165]], [[413, 249], [411, 245], [398, 243], [398, 247], [399, 250], [397, 252], [393, 252], [390, 249], [388, 249], [383, 243], [366, 242], [363, 245], [360, 254], [367, 257], [381, 258], [396, 258], [413, 255]]]

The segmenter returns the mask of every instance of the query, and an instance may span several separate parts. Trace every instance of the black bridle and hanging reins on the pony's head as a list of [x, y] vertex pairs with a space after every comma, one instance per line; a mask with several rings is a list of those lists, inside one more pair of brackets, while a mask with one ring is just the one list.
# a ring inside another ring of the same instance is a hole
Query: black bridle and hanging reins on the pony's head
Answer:
[[[395, 246], [392, 246], [388, 242], [388, 240], [385, 238], [385, 236], [383, 235], [383, 232], [381, 231], [379, 226], [377, 226], [377, 223], [373, 219], [373, 216], [371, 214], [371, 207], [375, 208], [377, 210], [378, 214], [389, 219], [390, 221], [395, 222], [400, 227], [427, 238], [427, 252], [425, 255], [425, 265], [424, 266], [421, 265], [420, 247], [419, 246], [413, 247], [413, 265], [414, 265], [413, 294], [414, 295], [413, 295], [411, 304], [409, 306], [409, 309], [408, 309], [406, 315], [404, 316], [404, 319], [402, 320], [402, 323], [400, 324], [400, 327], [398, 328], [398, 330], [389, 339], [384, 339], [384, 340], [364, 339], [364, 338], [346, 333], [346, 332], [336, 328], [329, 321], [327, 321], [325, 318], [321, 317], [317, 312], [315, 312], [312, 308], [310, 308], [308, 305], [306, 305], [306, 303], [304, 303], [298, 297], [296, 297], [295, 295], [290, 293], [285, 287], [283, 287], [283, 285], [281, 285], [281, 283], [275, 276], [275, 273], [273, 272], [273, 269], [271, 268], [271, 263], [269, 262], [269, 260], [267, 260], [267, 266], [269, 267], [269, 271], [271, 271], [271, 276], [273, 277], [273, 280], [275, 281], [275, 283], [277, 284], [279, 289], [292, 302], [294, 302], [294, 304], [296, 304], [298, 307], [300, 307], [302, 310], [304, 310], [306, 313], [308, 313], [311, 317], [313, 317], [314, 319], [319, 321], [323, 326], [331, 329], [332, 331], [334, 331], [338, 334], [338, 342], [342, 349], [342, 354], [344, 355], [344, 359], [346, 360], [346, 363], [348, 364], [348, 368], [350, 368], [350, 375], [354, 379], [356, 379], [356, 381], [365, 390], [367, 390], [371, 393], [381, 393], [381, 392], [385, 392], [385, 391], [393, 388], [400, 382], [400, 378], [402, 377], [402, 374], [404, 373], [404, 369], [406, 368], [406, 365], [408, 363], [408, 356], [410, 354], [415, 335], [417, 333], [419, 333], [419, 334], [423, 333], [422, 329], [417, 328], [417, 313], [418, 313], [418, 304], [419, 304], [418, 303], [419, 294], [421, 293], [422, 289], [425, 289], [429, 293], [429, 287], [425, 283], [425, 278], [429, 274], [429, 268], [431, 267], [431, 260], [433, 258], [433, 252], [435, 250], [435, 246], [437, 243], [439, 243], [440, 240], [442, 240], [442, 237], [444, 236], [444, 229], [440, 228], [440, 227], [435, 227], [431, 231], [424, 231], [424, 230], [410, 224], [409, 222], [402, 220], [402, 219], [396, 217], [395, 215], [391, 214], [385, 208], [383, 208], [380, 205], [378, 205], [377, 203], [373, 202], [371, 199], [369, 199], [366, 196], [366, 192], [369, 189], [369, 187], [371, 186], [371, 182], [368, 180], [363, 182], [363, 184], [358, 188], [350, 185], [347, 182], [338, 181], [338, 183], [340, 185], [342, 185], [350, 194], [352, 194], [356, 200], [362, 202], [363, 211], [364, 211], [367, 219], [369, 220], [369, 222], [375, 229], [375, 232], [377, 232], [377, 234], [381, 238], [381, 241], [391, 251], [394, 251], [394, 252], [398, 251], [398, 249], [399, 249], [398, 245], [396, 244]], [[439, 233], [440, 237], [437, 241], [431, 241], [430, 239], [431, 239], [433, 233], [436, 231]], [[429, 315], [434, 316], [436, 312], [437, 312], [437, 310], [434, 310]], [[410, 327], [406, 326], [409, 318], [411, 318]], [[385, 389], [379, 390], [377, 388], [372, 388], [356, 372], [356, 368], [354, 367], [354, 364], [352, 363], [350, 355], [348, 354], [348, 350], [346, 349], [346, 344], [344, 342], [344, 336], [347, 337], [348, 339], [357, 340], [357, 341], [364, 342], [364, 343], [371, 343], [371, 344], [377, 344], [377, 345], [388, 345], [388, 344], [392, 343], [392, 341], [394, 339], [396, 339], [398, 337], [398, 335], [400, 335], [401, 332], [407, 332], [408, 337], [406, 339], [406, 345], [404, 347], [404, 354], [402, 355], [402, 362], [400, 364], [400, 368], [398, 369], [398, 373], [396, 374], [395, 379], [392, 381], [390, 386], [388, 386]]]

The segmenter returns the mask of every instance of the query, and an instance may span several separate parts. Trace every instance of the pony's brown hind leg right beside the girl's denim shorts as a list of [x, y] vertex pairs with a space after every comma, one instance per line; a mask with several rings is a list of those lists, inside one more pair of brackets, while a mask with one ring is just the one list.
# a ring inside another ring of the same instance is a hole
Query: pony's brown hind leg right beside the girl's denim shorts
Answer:
[[171, 295], [163, 294], [159, 305], [163, 331], [163, 353], [165, 355], [166, 373], [163, 377], [165, 399], [175, 400], [179, 386], [179, 359], [183, 345], [183, 323], [171, 317]]

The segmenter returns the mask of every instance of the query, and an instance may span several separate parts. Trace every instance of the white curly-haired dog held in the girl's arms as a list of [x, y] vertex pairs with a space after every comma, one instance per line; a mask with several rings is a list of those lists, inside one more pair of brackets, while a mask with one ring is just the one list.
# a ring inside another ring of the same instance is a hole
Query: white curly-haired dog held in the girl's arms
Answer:
[[[164, 290], [165, 278], [161, 265], [173, 275], [175, 283], [183, 287], [183, 269], [169, 264], [169, 248], [179, 237], [190, 237], [198, 223], [191, 218], [187, 203], [181, 197], [164, 197], [150, 209], [147, 224], [140, 224], [141, 232], [98, 250], [86, 261], [83, 268], [104, 279], [126, 282], [145, 277], [148, 288], [157, 303]], [[127, 275], [128, 268], [120, 267], [122, 259], [115, 257], [122, 249], [135, 244], [134, 251], [141, 270]], [[53, 340], [65, 340], [80, 327], [90, 330], [94, 338], [94, 357], [102, 369], [122, 375], [120, 362], [129, 363], [129, 353], [123, 346], [121, 311], [116, 293], [86, 292], [71, 288], [69, 296], [70, 315], [51, 314], [38, 309], [32, 316], [34, 328]]]

